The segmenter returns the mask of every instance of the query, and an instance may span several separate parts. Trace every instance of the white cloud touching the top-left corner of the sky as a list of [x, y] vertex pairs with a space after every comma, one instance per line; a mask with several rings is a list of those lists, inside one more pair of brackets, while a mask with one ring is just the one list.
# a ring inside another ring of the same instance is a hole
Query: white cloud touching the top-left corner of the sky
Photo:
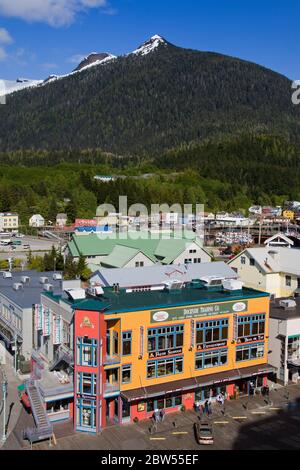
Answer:
[[73, 23], [80, 11], [101, 7], [107, 0], [0, 0], [0, 15], [61, 27]]

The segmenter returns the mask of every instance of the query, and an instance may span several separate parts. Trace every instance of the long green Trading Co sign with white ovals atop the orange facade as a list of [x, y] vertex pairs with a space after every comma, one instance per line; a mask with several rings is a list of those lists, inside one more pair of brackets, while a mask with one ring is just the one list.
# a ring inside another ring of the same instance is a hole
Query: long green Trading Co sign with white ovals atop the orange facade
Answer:
[[246, 312], [248, 302], [225, 302], [222, 304], [198, 305], [196, 307], [174, 308], [151, 312], [151, 323], [178, 321], [188, 318], [224, 315], [235, 312]]

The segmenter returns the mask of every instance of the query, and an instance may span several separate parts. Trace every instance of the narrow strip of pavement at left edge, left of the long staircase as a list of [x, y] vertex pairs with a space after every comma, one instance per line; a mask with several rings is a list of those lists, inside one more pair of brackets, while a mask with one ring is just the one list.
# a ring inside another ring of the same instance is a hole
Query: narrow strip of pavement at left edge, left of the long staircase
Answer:
[[[7, 425], [7, 437], [11, 434], [13, 429], [15, 428], [21, 410], [22, 405], [19, 400], [18, 396], [18, 385], [22, 382], [16, 376], [13, 366], [13, 358], [9, 354], [6, 356], [6, 364], [2, 365], [2, 369], [4, 370], [6, 377], [7, 377], [7, 399], [6, 399], [6, 425]], [[2, 380], [2, 378], [1, 378]], [[3, 422], [3, 409], [2, 409], [2, 387], [0, 387], [0, 399], [1, 399], [1, 414], [0, 414], [0, 433], [2, 436], [2, 422]], [[0, 448], [3, 443], [0, 441]]]

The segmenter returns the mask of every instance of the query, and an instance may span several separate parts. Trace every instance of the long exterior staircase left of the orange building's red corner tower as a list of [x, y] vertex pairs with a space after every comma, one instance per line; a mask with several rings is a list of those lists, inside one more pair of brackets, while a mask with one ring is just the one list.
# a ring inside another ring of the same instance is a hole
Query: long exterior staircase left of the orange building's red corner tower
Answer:
[[52, 424], [47, 416], [41, 393], [35, 381], [28, 380], [25, 383], [25, 390], [30, 401], [36, 428], [25, 429], [23, 433], [24, 439], [28, 439], [30, 442], [50, 439], [53, 434]]

